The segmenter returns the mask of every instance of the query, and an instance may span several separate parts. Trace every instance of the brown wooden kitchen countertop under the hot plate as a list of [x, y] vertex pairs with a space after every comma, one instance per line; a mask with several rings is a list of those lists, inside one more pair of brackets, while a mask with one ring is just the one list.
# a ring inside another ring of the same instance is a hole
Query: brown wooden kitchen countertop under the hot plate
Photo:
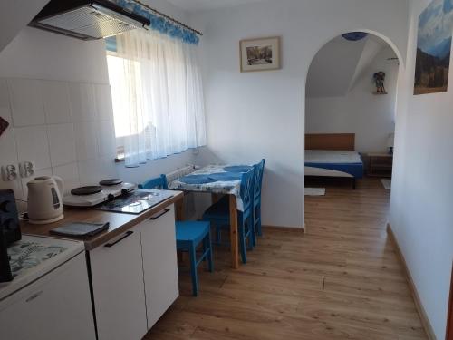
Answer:
[[[105, 242], [115, 238], [120, 234], [124, 233], [128, 229], [136, 226], [145, 219], [149, 219], [159, 211], [166, 209], [169, 205], [174, 204], [179, 199], [182, 199], [184, 194], [182, 191], [172, 191], [173, 197], [167, 199], [155, 207], [142, 212], [140, 215], [123, 214], [111, 211], [102, 211], [97, 209], [87, 208], [69, 208], [64, 207], [64, 219], [51, 224], [36, 225], [30, 224], [26, 221], [21, 221], [21, 231], [24, 234], [37, 235], [37, 236], [53, 236], [49, 233], [53, 228], [61, 227], [71, 222], [91, 222], [91, 223], [106, 223], [109, 222], [110, 226], [108, 230], [101, 232], [100, 234], [87, 239], [82, 238], [71, 238], [61, 237], [83, 241], [85, 250], [92, 250], [104, 244]], [[54, 236], [53, 236], [54, 237]]]

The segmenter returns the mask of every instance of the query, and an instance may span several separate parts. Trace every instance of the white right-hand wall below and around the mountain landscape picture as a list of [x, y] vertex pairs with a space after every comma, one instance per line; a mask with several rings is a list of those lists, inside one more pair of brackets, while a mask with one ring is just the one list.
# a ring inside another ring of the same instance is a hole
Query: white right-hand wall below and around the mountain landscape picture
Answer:
[[390, 224], [434, 332], [443, 339], [453, 259], [453, 76], [448, 92], [412, 94], [418, 16], [427, 5], [429, 0], [413, 0], [410, 6], [407, 72], [399, 96], [407, 103], [397, 115]]

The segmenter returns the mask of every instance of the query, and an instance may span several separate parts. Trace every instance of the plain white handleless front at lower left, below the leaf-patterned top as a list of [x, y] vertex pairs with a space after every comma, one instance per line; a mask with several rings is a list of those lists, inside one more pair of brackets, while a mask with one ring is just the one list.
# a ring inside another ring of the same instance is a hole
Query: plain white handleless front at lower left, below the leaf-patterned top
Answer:
[[0, 338], [95, 339], [85, 254], [0, 303]]

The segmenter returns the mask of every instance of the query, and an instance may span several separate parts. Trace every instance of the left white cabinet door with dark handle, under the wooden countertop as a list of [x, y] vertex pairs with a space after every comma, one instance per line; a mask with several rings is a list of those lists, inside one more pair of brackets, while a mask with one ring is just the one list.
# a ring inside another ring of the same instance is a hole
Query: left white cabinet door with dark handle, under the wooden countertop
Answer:
[[90, 251], [100, 340], [140, 339], [147, 332], [140, 226]]

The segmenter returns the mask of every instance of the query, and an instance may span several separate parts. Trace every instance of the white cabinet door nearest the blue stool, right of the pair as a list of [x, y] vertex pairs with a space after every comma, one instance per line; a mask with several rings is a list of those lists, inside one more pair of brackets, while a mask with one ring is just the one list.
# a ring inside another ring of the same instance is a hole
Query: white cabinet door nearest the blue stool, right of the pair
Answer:
[[140, 224], [150, 329], [179, 295], [174, 206]]

